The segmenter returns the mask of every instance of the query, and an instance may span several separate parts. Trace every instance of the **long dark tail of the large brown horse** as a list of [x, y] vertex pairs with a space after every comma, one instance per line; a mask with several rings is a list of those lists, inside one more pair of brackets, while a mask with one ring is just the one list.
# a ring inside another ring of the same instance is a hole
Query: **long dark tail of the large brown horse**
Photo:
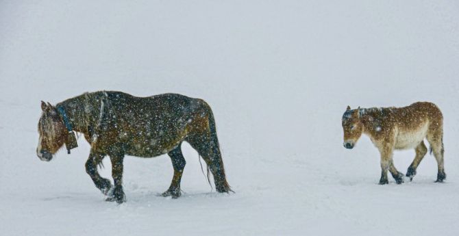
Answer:
[[215, 167], [219, 170], [218, 174], [221, 175], [221, 176], [218, 176], [218, 178], [221, 179], [222, 186], [216, 186], [216, 187], [217, 187], [217, 190], [219, 190], [219, 187], [221, 188], [220, 190], [223, 189], [223, 192], [229, 192], [229, 191], [234, 192], [226, 180], [225, 168], [223, 166], [223, 159], [221, 158], [219, 138], [216, 136], [216, 125], [215, 125], [214, 114], [210, 106], [207, 103], [205, 104], [206, 104], [206, 113], [208, 114], [208, 122], [209, 122], [209, 129], [210, 129], [210, 144], [212, 148], [212, 153], [214, 153], [214, 157], [216, 158], [213, 161], [215, 162], [214, 163]]

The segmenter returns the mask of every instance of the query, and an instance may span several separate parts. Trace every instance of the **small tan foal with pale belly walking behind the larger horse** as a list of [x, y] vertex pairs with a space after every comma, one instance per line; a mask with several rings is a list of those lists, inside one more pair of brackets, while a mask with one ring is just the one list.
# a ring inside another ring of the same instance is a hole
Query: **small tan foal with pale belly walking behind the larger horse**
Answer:
[[427, 153], [424, 139], [429, 142], [430, 152], [434, 153], [438, 163], [436, 182], [446, 179], [443, 168], [443, 115], [433, 103], [413, 103], [400, 108], [351, 109], [348, 106], [342, 124], [345, 148], [353, 148], [364, 133], [380, 150], [381, 185], [388, 183], [387, 170], [398, 184], [404, 182], [404, 174], [394, 166], [393, 150], [414, 148], [416, 151], [416, 157], [406, 172], [406, 176], [412, 180]]

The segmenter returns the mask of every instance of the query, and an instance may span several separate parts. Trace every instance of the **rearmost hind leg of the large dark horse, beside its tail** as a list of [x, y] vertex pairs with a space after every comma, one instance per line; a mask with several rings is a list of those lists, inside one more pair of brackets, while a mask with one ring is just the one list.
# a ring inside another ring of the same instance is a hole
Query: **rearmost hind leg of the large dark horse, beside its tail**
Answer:
[[214, 183], [217, 192], [232, 191], [229, 187], [226, 176], [225, 168], [223, 168], [223, 160], [221, 159], [221, 152], [219, 148], [216, 134], [190, 135], [187, 140], [190, 145], [197, 150], [199, 155], [206, 161], [210, 172], [214, 176]]

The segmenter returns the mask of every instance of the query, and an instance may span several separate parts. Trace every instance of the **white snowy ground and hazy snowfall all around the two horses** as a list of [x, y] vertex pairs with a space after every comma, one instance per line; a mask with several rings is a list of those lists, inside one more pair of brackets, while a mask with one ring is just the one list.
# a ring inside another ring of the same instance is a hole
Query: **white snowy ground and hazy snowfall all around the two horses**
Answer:
[[[458, 235], [458, 13], [456, 1], [0, 1], [0, 235]], [[177, 200], [158, 196], [166, 156], [125, 159], [123, 205], [92, 184], [82, 137], [40, 161], [40, 100], [96, 90], [208, 101], [236, 194], [210, 190], [188, 145]], [[447, 181], [427, 156], [411, 183], [377, 185], [376, 148], [343, 148], [341, 116], [414, 101], [443, 110]]]

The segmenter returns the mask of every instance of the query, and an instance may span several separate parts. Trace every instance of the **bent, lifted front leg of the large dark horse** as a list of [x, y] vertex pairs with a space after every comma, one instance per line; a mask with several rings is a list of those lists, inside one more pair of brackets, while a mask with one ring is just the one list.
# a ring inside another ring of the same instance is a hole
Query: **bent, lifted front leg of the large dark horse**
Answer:
[[91, 150], [88, 161], [86, 161], [85, 166], [86, 173], [89, 174], [96, 187], [100, 189], [103, 194], [107, 195], [110, 189], [112, 188], [112, 184], [108, 179], [103, 179], [99, 175], [99, 172], [97, 172], [97, 165], [99, 165], [99, 163], [102, 162], [103, 157], [105, 157], [105, 155], [101, 153], [96, 153], [95, 151]]

